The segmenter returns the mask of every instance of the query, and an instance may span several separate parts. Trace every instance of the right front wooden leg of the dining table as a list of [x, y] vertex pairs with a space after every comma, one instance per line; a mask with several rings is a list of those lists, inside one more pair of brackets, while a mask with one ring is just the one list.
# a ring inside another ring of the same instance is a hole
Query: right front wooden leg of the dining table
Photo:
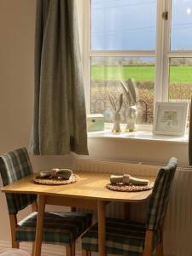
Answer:
[[98, 212], [99, 256], [106, 256], [106, 231], [105, 231], [106, 202], [105, 201], [97, 201], [97, 212]]

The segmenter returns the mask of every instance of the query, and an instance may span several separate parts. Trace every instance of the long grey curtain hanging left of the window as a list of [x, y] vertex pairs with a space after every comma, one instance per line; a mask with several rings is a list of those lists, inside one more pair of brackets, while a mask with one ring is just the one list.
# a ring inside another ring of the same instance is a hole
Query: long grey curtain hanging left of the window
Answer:
[[32, 154], [88, 154], [74, 0], [38, 0]]

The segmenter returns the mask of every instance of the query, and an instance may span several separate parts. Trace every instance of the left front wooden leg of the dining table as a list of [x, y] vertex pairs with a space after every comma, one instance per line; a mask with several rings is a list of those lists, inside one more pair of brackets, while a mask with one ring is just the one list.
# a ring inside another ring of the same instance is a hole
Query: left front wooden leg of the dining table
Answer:
[[34, 256], [41, 255], [41, 245], [44, 230], [44, 208], [45, 208], [45, 196], [38, 195], [38, 218], [35, 236], [35, 254]]

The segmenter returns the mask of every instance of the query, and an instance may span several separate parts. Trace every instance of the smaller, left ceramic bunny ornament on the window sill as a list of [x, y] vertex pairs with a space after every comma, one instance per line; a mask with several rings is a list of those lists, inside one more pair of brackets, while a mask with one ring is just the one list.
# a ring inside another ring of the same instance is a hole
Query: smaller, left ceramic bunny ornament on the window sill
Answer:
[[109, 101], [113, 109], [113, 129], [112, 132], [120, 132], [120, 109], [123, 104], [123, 94], [119, 96], [119, 106], [116, 106], [113, 96], [109, 95]]

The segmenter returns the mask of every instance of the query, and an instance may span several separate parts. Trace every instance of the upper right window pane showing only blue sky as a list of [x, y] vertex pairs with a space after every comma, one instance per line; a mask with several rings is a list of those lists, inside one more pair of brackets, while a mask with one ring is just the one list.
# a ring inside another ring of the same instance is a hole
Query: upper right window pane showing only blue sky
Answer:
[[192, 50], [192, 1], [172, 0], [172, 50]]

